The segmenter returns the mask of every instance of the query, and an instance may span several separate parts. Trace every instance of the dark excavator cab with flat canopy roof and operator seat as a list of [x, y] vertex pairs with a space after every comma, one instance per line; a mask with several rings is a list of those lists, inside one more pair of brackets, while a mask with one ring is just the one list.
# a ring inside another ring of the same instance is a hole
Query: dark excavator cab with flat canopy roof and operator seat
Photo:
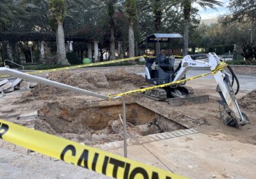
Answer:
[[154, 33], [147, 37], [147, 45], [149, 43], [156, 44], [156, 58], [146, 59], [145, 78], [148, 83], [159, 85], [172, 81], [172, 75], [175, 73], [175, 58], [173, 54], [166, 54], [165, 51], [161, 51], [161, 44], [169, 45], [170, 49], [170, 44], [173, 43], [174, 38], [180, 39], [183, 42], [183, 36], [178, 33]]

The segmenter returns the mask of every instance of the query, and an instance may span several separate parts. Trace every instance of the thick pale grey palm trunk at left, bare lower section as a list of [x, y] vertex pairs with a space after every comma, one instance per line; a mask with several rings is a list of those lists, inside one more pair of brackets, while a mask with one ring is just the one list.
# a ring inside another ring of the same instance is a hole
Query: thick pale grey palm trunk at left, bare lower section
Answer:
[[63, 22], [58, 22], [58, 30], [57, 30], [57, 58], [58, 63], [61, 65], [70, 65], [68, 63], [66, 57], [66, 49], [65, 49], [65, 35], [63, 29]]

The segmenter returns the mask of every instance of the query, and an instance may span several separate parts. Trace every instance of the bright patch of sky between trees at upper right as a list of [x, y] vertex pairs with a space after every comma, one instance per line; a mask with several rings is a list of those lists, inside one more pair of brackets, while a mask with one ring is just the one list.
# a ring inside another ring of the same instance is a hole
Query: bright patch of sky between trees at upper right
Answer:
[[223, 6], [216, 6], [216, 10], [212, 10], [211, 8], [207, 8], [204, 9], [200, 6], [198, 6], [198, 4], [193, 4], [193, 6], [195, 6], [196, 8], [198, 8], [199, 10], [199, 14], [201, 16], [201, 19], [216, 19], [218, 16], [220, 15], [224, 15], [228, 13], [228, 3], [229, 0], [219, 0], [221, 1], [221, 3], [223, 3]]

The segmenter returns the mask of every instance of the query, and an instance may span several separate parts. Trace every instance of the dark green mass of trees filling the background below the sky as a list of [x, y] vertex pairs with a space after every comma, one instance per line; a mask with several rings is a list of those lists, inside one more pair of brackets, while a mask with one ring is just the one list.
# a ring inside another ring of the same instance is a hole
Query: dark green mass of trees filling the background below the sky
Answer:
[[[189, 53], [208, 52], [221, 45], [227, 46], [225, 52], [228, 52], [234, 44], [253, 42], [256, 36], [256, 8], [253, 0], [231, 0], [228, 6], [230, 13], [218, 23], [200, 24], [197, 6], [193, 4], [216, 8], [221, 5], [220, 2], [3, 0], [0, 2], [0, 31], [3, 39], [0, 42], [0, 58], [23, 61], [19, 55], [15, 57], [18, 54], [15, 52], [20, 52], [26, 54], [26, 61], [31, 61], [31, 54], [28, 53], [32, 52], [33, 57], [38, 57], [36, 60], [40, 61], [40, 47], [43, 43], [38, 45], [36, 40], [46, 41], [45, 48], [48, 50], [45, 49], [45, 52], [51, 52], [51, 56], [58, 54], [60, 63], [66, 59], [68, 44], [73, 45], [79, 58], [93, 58], [98, 52], [95, 48], [99, 49], [101, 61], [115, 59], [117, 56], [136, 56], [145, 53], [145, 38], [152, 33], [183, 34], [184, 45], [188, 47]], [[16, 36], [16, 40], [8, 39], [8, 36]], [[35, 41], [22, 42], [22, 36]], [[72, 39], [76, 42], [69, 43]], [[171, 46], [172, 49], [182, 49], [182, 43], [173, 42]], [[154, 49], [154, 46], [148, 47]], [[10, 56], [11, 53], [14, 57]], [[186, 54], [186, 50], [182, 53]]]

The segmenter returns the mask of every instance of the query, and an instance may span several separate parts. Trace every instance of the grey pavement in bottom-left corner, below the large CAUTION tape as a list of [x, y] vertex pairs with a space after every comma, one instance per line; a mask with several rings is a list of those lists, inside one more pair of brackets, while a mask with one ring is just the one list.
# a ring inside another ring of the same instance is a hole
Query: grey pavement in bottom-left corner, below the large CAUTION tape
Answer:
[[[15, 150], [17, 151], [17, 150]], [[12, 179], [50, 179], [50, 178], [101, 178], [109, 179], [104, 175], [99, 175], [93, 171], [66, 164], [60, 160], [50, 160], [49, 157], [36, 153], [20, 154], [10, 150], [0, 148], [0, 178]]]

